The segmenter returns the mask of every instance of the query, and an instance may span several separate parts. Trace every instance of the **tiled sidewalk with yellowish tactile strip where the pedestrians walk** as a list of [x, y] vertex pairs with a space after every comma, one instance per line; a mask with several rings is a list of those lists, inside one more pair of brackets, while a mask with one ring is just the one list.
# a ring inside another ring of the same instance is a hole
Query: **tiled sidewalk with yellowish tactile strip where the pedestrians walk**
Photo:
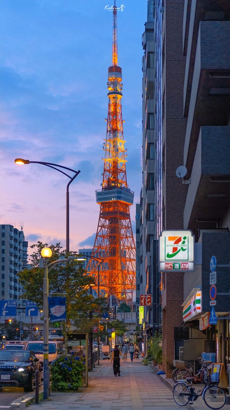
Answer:
[[[176, 410], [172, 387], [163, 383], [152, 366], [143, 366], [141, 359], [133, 363], [121, 361], [121, 377], [114, 377], [110, 360], [89, 373], [89, 387], [77, 393], [51, 393], [51, 400], [40, 403], [42, 409], [55, 410]], [[207, 410], [200, 397], [186, 410]], [[31, 405], [30, 410], [38, 410]], [[223, 410], [230, 410], [225, 405]]]

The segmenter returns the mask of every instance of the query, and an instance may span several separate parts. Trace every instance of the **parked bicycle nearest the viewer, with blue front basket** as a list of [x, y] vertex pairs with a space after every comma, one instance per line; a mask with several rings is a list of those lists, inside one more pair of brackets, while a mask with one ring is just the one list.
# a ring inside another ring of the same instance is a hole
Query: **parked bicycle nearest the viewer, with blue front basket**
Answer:
[[210, 409], [221, 409], [226, 403], [226, 394], [221, 389], [219, 384], [219, 373], [213, 373], [208, 376], [207, 383], [203, 390], [195, 392], [192, 387], [192, 381], [194, 377], [187, 377], [186, 382], [180, 381], [175, 384], [172, 390], [173, 399], [179, 406], [185, 406], [190, 402], [193, 404], [198, 397], [202, 396], [203, 401]]

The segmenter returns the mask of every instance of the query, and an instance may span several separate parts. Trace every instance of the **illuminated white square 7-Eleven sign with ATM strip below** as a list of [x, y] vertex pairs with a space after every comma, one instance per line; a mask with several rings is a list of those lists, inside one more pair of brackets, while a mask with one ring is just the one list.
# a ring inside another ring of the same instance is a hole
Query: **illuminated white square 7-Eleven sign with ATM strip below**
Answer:
[[163, 230], [159, 246], [159, 271], [194, 270], [194, 236], [190, 230]]

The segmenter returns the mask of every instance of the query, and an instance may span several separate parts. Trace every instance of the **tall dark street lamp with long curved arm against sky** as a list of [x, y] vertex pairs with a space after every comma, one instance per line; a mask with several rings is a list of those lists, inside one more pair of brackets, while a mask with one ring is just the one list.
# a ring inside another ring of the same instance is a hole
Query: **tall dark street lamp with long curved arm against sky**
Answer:
[[[67, 187], [66, 187], [66, 253], [68, 255], [68, 253], [69, 253], [69, 185], [78, 176], [80, 171], [75, 171], [74, 169], [67, 168], [67, 166], [52, 164], [52, 162], [29, 161], [29, 159], [22, 159], [22, 158], [16, 158], [14, 160], [14, 162], [15, 162], [15, 164], [18, 164], [18, 165], [26, 165], [26, 164], [45, 165], [45, 166], [48, 166], [49, 168], [56, 169], [56, 171], [61, 172], [62, 174], [66, 175], [70, 179], [70, 181], [68, 182]], [[63, 172], [59, 168], [67, 169], [67, 171], [74, 172], [75, 175], [73, 177], [71, 177], [70, 175], [68, 175], [66, 172]]]

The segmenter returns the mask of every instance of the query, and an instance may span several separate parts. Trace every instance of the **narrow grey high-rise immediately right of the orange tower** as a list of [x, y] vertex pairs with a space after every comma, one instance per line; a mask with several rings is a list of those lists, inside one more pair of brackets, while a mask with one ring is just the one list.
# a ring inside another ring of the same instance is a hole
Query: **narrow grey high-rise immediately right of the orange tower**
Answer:
[[[142, 36], [144, 55], [142, 57], [142, 189], [140, 204], [136, 206], [136, 223], [139, 233], [136, 232], [136, 303], [140, 303], [140, 294], [153, 293], [151, 249], [154, 241], [154, 214], [155, 214], [155, 148], [154, 148], [154, 5], [155, 0], [148, 0], [147, 22]], [[147, 333], [152, 335], [153, 323], [156, 320], [153, 314], [153, 305], [144, 308], [143, 330], [144, 345], [147, 342]]]

